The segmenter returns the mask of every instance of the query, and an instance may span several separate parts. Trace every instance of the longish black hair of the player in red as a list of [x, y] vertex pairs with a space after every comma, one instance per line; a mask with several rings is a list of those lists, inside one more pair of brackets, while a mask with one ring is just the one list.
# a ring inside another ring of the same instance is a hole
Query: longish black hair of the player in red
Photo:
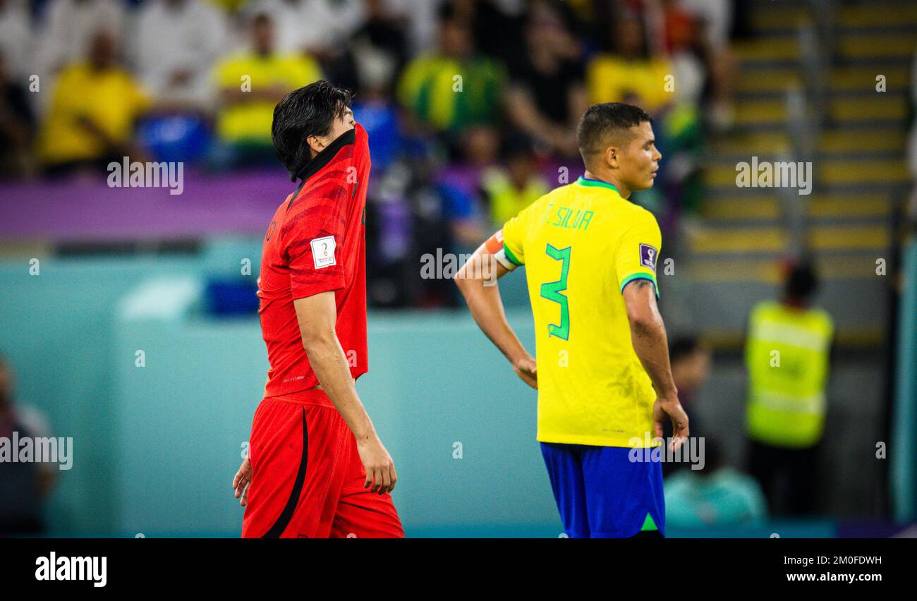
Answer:
[[274, 106], [271, 139], [274, 152], [295, 182], [297, 173], [312, 159], [310, 136], [326, 136], [335, 119], [353, 102], [346, 88], [320, 80], [293, 90]]

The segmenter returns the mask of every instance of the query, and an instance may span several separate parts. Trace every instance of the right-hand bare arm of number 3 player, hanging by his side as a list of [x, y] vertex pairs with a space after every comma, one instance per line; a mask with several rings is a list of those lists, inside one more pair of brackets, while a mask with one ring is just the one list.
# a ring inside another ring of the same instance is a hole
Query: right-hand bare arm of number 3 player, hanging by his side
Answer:
[[666, 326], [656, 305], [656, 289], [649, 280], [634, 280], [624, 287], [623, 294], [634, 351], [656, 389], [653, 406], [656, 436], [662, 436], [662, 420], [670, 417], [675, 439], [672, 449], [678, 449], [689, 436], [688, 415], [679, 403], [679, 391], [672, 380]]

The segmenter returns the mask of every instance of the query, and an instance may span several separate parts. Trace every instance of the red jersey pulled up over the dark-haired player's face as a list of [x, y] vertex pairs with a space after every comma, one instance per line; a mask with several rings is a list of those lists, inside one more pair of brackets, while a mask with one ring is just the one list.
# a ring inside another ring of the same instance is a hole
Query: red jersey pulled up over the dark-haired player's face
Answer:
[[315, 155], [303, 183], [277, 209], [264, 237], [258, 280], [261, 335], [268, 346], [265, 396], [312, 388], [293, 300], [334, 291], [337, 339], [354, 378], [366, 356], [366, 206], [370, 147], [359, 124]]

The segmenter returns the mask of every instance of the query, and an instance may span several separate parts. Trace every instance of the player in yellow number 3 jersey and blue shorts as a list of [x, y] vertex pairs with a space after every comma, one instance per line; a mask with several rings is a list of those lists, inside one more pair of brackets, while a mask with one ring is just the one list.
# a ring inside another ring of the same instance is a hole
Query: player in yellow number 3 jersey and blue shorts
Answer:
[[[577, 139], [584, 175], [507, 221], [456, 284], [487, 337], [538, 390], [537, 439], [568, 536], [661, 538], [662, 450], [646, 447], [660, 445], [671, 419], [669, 449], [677, 450], [688, 416], [657, 309], [659, 227], [627, 198], [653, 185], [662, 156], [652, 119], [636, 106], [591, 106]], [[522, 265], [537, 362], [487, 277]]]

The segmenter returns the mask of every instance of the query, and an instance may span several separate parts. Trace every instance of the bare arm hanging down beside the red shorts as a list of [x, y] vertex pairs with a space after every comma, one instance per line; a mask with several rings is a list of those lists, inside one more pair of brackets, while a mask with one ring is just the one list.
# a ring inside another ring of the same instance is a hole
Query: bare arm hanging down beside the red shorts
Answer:
[[381, 495], [391, 491], [397, 480], [392, 457], [382, 446], [370, 416], [359, 400], [357, 388], [350, 377], [347, 356], [337, 339], [335, 293], [323, 292], [297, 298], [293, 306], [309, 364], [322, 389], [357, 439], [359, 456], [366, 468], [364, 488], [375, 481], [372, 492], [378, 491]]

